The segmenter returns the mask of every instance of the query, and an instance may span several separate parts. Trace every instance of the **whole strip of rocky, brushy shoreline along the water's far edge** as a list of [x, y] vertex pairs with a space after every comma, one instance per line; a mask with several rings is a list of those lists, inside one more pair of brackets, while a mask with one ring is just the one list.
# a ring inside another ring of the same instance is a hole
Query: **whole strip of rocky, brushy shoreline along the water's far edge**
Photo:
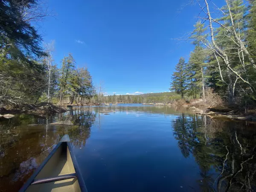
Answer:
[[[36, 116], [50, 116], [55, 113], [64, 113], [69, 111], [69, 107], [79, 107], [79, 106], [117, 106], [118, 104], [122, 103], [114, 103], [114, 104], [87, 104], [87, 105], [81, 105], [81, 104], [59, 104], [55, 105], [52, 103], [42, 102], [38, 105], [35, 104], [23, 104], [18, 106], [17, 108], [12, 109], [5, 109], [0, 108], [0, 118], [7, 118], [4, 117], [4, 115], [15, 115], [15, 114], [29, 114], [29, 115], [36, 115]], [[134, 104], [134, 103], [130, 103]], [[233, 119], [233, 120], [242, 120], [242, 121], [251, 121], [256, 122], [256, 114], [252, 113], [243, 113], [241, 109], [239, 108], [228, 108], [228, 107], [214, 107], [214, 108], [207, 108], [207, 104], [203, 102], [195, 102], [195, 103], [185, 103], [183, 105], [179, 105], [177, 102], [174, 103], [141, 103], [142, 105], [151, 105], [151, 106], [172, 106], [172, 107], [178, 107], [178, 108], [184, 108], [189, 112], [196, 113], [199, 115], [206, 115], [210, 118], [226, 118], [226, 119]], [[11, 117], [10, 117], [11, 118]]]

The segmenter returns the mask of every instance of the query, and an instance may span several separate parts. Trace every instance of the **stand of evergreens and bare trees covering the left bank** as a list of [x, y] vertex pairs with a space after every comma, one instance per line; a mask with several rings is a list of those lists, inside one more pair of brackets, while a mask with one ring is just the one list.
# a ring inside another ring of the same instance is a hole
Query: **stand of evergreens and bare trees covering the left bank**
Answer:
[[61, 68], [53, 43], [43, 46], [33, 22], [48, 16], [38, 0], [0, 1], [0, 108], [21, 103], [84, 102], [93, 97], [92, 77], [69, 54]]

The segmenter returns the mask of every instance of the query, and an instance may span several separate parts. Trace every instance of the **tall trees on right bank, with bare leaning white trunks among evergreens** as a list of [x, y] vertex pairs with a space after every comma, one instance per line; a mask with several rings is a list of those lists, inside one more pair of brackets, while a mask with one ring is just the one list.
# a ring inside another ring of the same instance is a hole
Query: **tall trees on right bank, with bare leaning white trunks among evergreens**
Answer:
[[[256, 103], [256, 1], [226, 0], [221, 8], [208, 0], [186, 40], [195, 46], [186, 62], [180, 58], [170, 90], [205, 101], [213, 90], [227, 105]], [[183, 37], [184, 38], [184, 37]]]

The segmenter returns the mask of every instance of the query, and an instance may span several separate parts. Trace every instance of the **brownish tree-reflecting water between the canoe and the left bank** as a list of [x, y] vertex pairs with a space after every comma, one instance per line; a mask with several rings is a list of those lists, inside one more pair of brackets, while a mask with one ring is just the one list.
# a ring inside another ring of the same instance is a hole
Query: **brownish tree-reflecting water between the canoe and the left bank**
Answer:
[[[68, 119], [73, 126], [49, 125], [55, 120]], [[84, 146], [95, 119], [96, 113], [81, 108], [51, 118], [20, 115], [2, 121], [0, 191], [18, 191], [64, 134], [69, 134], [72, 145]], [[27, 126], [34, 123], [43, 125]]]

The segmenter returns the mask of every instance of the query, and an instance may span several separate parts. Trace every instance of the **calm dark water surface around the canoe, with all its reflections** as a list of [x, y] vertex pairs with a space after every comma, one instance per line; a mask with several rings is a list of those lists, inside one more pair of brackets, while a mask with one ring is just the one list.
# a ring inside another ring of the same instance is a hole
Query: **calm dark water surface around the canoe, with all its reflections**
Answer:
[[0, 191], [17, 191], [64, 134], [89, 192], [256, 191], [255, 124], [142, 105], [1, 119]]

